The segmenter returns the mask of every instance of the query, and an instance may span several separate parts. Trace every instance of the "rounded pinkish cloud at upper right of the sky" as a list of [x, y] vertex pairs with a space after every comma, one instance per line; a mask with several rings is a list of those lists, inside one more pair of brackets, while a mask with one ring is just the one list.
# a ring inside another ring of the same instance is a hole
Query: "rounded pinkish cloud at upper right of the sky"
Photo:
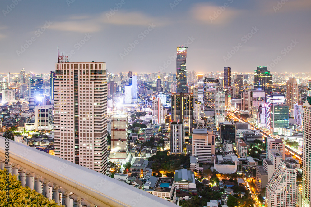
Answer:
[[211, 25], [227, 24], [242, 12], [243, 11], [230, 8], [230, 2], [221, 6], [215, 6], [209, 3], [199, 3], [190, 10], [192, 17], [195, 20]]

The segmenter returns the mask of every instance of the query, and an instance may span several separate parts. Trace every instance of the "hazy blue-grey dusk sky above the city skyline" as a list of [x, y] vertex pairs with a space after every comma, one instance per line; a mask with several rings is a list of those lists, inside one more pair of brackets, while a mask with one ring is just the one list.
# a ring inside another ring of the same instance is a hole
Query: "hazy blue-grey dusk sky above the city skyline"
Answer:
[[310, 72], [310, 0], [1, 0], [0, 72], [106, 62], [109, 72]]

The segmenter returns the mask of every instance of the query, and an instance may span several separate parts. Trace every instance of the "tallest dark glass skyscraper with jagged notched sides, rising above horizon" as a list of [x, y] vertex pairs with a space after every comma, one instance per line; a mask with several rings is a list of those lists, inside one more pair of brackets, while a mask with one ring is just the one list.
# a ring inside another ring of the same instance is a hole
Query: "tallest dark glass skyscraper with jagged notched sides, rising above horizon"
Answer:
[[177, 47], [176, 57], [176, 92], [186, 93], [187, 92], [187, 47]]

